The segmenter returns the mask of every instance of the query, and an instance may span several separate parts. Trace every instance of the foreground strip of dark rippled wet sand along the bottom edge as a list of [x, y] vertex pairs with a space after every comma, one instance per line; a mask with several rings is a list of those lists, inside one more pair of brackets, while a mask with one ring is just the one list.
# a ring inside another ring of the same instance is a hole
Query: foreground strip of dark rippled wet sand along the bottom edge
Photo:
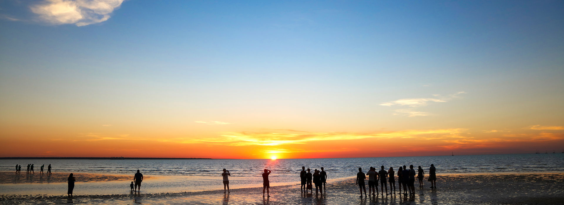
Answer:
[[[85, 175], [81, 173], [81, 175]], [[68, 176], [68, 175], [67, 175]], [[129, 180], [129, 179], [127, 179]], [[153, 182], [159, 180], [153, 179]], [[124, 184], [127, 181], [122, 181]], [[109, 182], [100, 182], [109, 183]], [[64, 183], [55, 183], [65, 185]], [[96, 184], [96, 182], [85, 182]], [[38, 184], [30, 184], [38, 185]], [[389, 184], [388, 184], [389, 185]], [[77, 184], [79, 186], [79, 184]], [[564, 203], [564, 173], [513, 173], [440, 175], [438, 189], [424, 188], [416, 181], [415, 196], [399, 193], [359, 197], [354, 178], [329, 180], [327, 193], [304, 194], [299, 185], [272, 186], [271, 197], [262, 197], [262, 188], [232, 189], [230, 194], [221, 190], [189, 191], [174, 193], [140, 194], [122, 191], [122, 194], [78, 194], [74, 198], [65, 195], [3, 194], [6, 186], [0, 186], [2, 204], [562, 204]], [[235, 188], [235, 187], [233, 187]], [[315, 188], [314, 188], [315, 191]], [[165, 191], [166, 192], [166, 191]], [[76, 193], [76, 192], [75, 192]], [[125, 193], [125, 194], [123, 194]]]

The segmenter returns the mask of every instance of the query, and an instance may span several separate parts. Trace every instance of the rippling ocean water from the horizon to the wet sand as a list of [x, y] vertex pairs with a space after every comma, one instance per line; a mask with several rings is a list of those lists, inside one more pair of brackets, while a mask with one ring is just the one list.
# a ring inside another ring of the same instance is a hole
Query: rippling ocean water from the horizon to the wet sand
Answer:
[[[83, 160], [83, 159], [3, 159], [0, 160], [0, 171], [15, 171], [16, 164], [22, 164], [22, 175], [28, 163], [33, 163], [38, 179], [39, 167], [45, 164], [52, 166], [52, 172], [73, 172], [80, 183], [80, 173], [104, 173], [117, 175], [133, 175], [140, 170], [145, 176], [155, 176], [156, 181], [147, 181], [143, 191], [147, 193], [164, 193], [179, 191], [203, 191], [223, 189], [221, 173], [223, 168], [231, 172], [231, 188], [262, 187], [261, 173], [263, 169], [271, 170], [271, 185], [291, 185], [299, 182], [301, 167], [315, 169], [324, 167], [328, 180], [354, 177], [358, 168], [364, 172], [368, 167], [384, 166], [394, 171], [399, 166], [410, 164], [421, 166], [428, 173], [430, 164], [437, 167], [437, 174], [470, 174], [470, 173], [508, 173], [508, 172], [564, 172], [564, 154], [499, 154], [499, 155], [456, 155], [429, 157], [373, 157], [373, 158], [323, 158], [323, 159], [139, 159], [139, 160]], [[45, 167], [45, 171], [47, 168]], [[42, 176], [43, 177], [43, 176]], [[26, 181], [24, 181], [26, 182]], [[46, 184], [45, 180], [28, 180], [30, 184]], [[127, 182], [127, 183], [126, 183]], [[91, 184], [99, 194], [108, 194], [127, 190], [128, 181], [122, 184], [107, 182]], [[29, 184], [29, 183], [28, 183]], [[61, 193], [64, 193], [64, 184]], [[77, 185], [78, 186], [78, 185]], [[85, 185], [86, 186], [86, 185]], [[95, 187], [94, 187], [95, 186]], [[35, 186], [34, 190], [40, 186]], [[125, 188], [125, 189], [124, 189]], [[47, 189], [47, 188], [46, 188]], [[51, 188], [49, 188], [51, 189]], [[2, 193], [30, 194], [44, 193], [45, 190], [29, 190], [29, 186], [11, 184], [0, 185]], [[43, 191], [43, 192], [42, 192]], [[59, 191], [59, 190], [58, 190]], [[101, 192], [100, 192], [101, 191]], [[105, 191], [105, 192], [104, 192]]]

